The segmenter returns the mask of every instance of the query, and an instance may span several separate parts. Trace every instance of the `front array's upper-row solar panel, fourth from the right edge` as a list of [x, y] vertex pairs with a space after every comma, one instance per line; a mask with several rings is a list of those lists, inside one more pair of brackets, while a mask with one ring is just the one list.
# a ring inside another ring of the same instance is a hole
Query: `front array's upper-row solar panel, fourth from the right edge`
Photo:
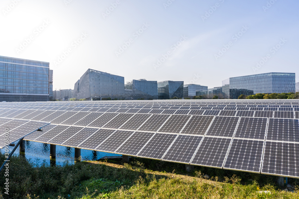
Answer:
[[193, 115], [181, 133], [204, 135], [213, 118], [214, 116]]

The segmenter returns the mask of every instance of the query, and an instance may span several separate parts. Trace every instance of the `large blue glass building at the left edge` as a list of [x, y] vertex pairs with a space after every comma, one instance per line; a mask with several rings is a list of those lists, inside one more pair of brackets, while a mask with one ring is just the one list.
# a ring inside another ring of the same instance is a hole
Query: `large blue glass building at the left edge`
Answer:
[[49, 101], [49, 74], [49, 62], [0, 56], [0, 101]]

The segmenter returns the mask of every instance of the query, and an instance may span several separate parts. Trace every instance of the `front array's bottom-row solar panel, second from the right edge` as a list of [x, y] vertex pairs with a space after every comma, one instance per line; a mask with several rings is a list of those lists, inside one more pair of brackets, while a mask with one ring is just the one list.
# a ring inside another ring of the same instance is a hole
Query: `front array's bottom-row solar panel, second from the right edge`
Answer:
[[260, 172], [264, 141], [234, 139], [223, 168]]

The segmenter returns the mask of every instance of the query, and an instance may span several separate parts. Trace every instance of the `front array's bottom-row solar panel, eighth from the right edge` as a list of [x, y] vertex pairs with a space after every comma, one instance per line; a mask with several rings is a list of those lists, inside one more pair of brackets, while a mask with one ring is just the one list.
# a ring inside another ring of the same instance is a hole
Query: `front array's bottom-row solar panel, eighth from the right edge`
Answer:
[[99, 129], [86, 140], [84, 140], [78, 148], [94, 150], [100, 145], [107, 137], [109, 137], [115, 130], [112, 129]]

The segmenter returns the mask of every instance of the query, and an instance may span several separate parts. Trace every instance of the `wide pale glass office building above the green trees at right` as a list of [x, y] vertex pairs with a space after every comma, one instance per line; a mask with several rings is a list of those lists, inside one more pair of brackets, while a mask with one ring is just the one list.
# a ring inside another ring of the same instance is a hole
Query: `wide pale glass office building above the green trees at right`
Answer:
[[239, 95], [257, 93], [295, 92], [295, 73], [264, 73], [231, 77], [222, 81], [225, 98], [238, 99]]

